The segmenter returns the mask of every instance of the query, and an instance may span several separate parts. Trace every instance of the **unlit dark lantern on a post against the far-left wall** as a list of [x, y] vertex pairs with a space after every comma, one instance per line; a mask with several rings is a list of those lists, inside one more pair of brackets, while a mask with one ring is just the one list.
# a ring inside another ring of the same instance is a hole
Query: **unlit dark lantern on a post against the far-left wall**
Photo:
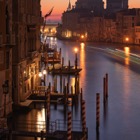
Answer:
[[3, 88], [3, 94], [4, 94], [4, 117], [6, 117], [6, 95], [9, 92], [9, 85], [8, 85], [8, 80], [4, 82], [2, 85]]

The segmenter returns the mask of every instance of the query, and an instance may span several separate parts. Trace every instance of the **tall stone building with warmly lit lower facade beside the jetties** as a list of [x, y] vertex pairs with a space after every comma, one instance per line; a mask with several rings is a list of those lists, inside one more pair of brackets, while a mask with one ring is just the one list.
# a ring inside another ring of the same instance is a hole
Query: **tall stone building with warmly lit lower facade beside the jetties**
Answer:
[[13, 0], [13, 100], [14, 105], [26, 100], [39, 83], [40, 68], [40, 0]]

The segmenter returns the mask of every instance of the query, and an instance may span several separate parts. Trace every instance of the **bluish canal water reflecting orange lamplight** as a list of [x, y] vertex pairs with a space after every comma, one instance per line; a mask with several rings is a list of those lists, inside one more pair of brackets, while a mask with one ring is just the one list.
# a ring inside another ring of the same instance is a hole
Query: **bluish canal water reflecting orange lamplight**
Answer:
[[[86, 123], [88, 140], [137, 140], [140, 138], [140, 61], [132, 63], [131, 58], [116, 57], [108, 53], [107, 49], [116, 48], [128, 54], [140, 54], [140, 47], [128, 45], [114, 45], [101, 43], [81, 43], [60, 41], [49, 38], [49, 42], [56, 43], [61, 48], [64, 64], [74, 65], [75, 52], [78, 48], [78, 65], [80, 72], [80, 87], [86, 102]], [[103, 78], [108, 74], [108, 101], [103, 105]], [[47, 75], [47, 82], [52, 80]], [[67, 77], [66, 77], [67, 79]], [[73, 77], [70, 78], [71, 84]], [[59, 85], [58, 85], [59, 87]], [[96, 134], [96, 93], [100, 93], [100, 126]], [[45, 121], [45, 111], [42, 106], [24, 113], [15, 113], [14, 122]], [[57, 110], [51, 106], [51, 120], [63, 119], [63, 107]], [[73, 109], [73, 119], [80, 120], [80, 108]], [[32, 140], [33, 138], [16, 137], [17, 140]]]

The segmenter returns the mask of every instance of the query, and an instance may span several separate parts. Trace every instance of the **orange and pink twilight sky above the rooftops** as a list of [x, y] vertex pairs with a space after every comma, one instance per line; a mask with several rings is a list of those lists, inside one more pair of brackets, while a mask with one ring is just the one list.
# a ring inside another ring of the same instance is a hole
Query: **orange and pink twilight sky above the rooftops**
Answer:
[[[76, 0], [70, 0], [71, 5], [75, 5]], [[105, 2], [105, 0], [104, 0]], [[54, 7], [48, 21], [61, 20], [62, 13], [67, 9], [69, 0], [41, 0], [42, 15], [44, 16]], [[129, 8], [140, 8], [140, 0], [129, 0]]]

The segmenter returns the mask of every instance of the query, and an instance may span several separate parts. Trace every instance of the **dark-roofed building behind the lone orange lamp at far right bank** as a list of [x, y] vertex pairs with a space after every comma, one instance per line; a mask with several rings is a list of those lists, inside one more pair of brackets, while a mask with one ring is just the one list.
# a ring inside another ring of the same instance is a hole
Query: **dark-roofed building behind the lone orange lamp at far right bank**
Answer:
[[[136, 27], [140, 23], [140, 8], [122, 10], [116, 13], [116, 40], [119, 43], [135, 44], [139, 32]], [[137, 37], [136, 37], [137, 36]]]

